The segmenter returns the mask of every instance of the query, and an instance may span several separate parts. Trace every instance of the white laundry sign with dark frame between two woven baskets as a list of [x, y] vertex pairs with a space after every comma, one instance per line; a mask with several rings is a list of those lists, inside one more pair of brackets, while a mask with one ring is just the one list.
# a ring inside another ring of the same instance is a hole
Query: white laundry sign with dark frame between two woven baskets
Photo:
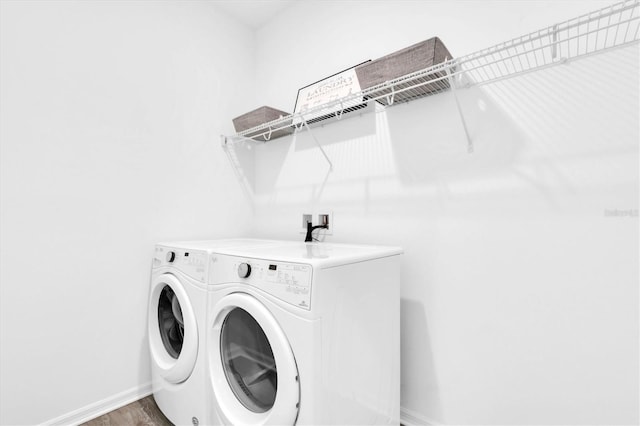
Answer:
[[[370, 62], [365, 61], [362, 64]], [[356, 67], [333, 74], [320, 81], [312, 83], [298, 90], [294, 114], [302, 114], [307, 123], [315, 123], [333, 116], [356, 109], [364, 108], [367, 104], [362, 97], [345, 100], [342, 104], [331, 104], [341, 98], [359, 93], [362, 89], [356, 75]], [[322, 107], [326, 105], [326, 107]], [[294, 119], [294, 124], [302, 122], [300, 117]]]

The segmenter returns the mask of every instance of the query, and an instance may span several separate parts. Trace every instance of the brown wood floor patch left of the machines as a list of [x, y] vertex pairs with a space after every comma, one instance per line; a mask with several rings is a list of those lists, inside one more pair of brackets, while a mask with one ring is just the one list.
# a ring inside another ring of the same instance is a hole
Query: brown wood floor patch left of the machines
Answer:
[[153, 396], [148, 396], [81, 426], [173, 426], [173, 423], [162, 414]]

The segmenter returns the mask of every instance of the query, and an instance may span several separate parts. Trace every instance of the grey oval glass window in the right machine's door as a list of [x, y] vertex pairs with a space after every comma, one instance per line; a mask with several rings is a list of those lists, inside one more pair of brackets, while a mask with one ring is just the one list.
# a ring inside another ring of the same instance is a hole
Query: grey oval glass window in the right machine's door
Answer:
[[244, 309], [225, 318], [220, 352], [227, 382], [242, 405], [254, 413], [270, 410], [278, 390], [276, 362], [262, 327]]

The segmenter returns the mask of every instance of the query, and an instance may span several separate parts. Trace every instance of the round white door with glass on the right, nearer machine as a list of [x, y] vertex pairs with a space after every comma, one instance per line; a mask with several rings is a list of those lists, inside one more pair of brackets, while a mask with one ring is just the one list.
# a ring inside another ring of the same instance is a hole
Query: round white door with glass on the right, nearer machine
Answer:
[[222, 421], [293, 425], [300, 402], [298, 368], [276, 319], [245, 293], [224, 297], [213, 317], [210, 378]]

